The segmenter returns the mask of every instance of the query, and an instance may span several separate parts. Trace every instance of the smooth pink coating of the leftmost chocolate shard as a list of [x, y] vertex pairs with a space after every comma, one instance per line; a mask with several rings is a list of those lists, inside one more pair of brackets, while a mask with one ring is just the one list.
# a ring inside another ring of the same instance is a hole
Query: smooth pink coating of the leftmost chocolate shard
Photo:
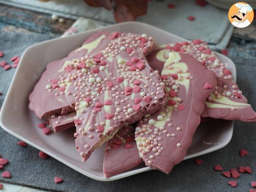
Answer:
[[[36, 116], [41, 119], [47, 118], [47, 116], [51, 116], [52, 114], [65, 114], [70, 111], [74, 111], [74, 97], [72, 94], [76, 93], [75, 86], [71, 85], [68, 90], [65, 90], [72, 93], [71, 95], [67, 95], [67, 93], [61, 91], [59, 89], [62, 87], [62, 85], [60, 85], [60, 81], [61, 79], [65, 79], [67, 77], [67, 71], [63, 70], [59, 72], [59, 70], [61, 70], [66, 61], [72, 61], [75, 58], [97, 52], [98, 50], [102, 49], [102, 47], [106, 47], [106, 45], [111, 41], [109, 38], [107, 38], [109, 32], [100, 31], [87, 38], [83, 45], [91, 43], [102, 35], [105, 35], [106, 38], [103, 38], [98, 46], [92, 49], [90, 52], [87, 52], [87, 49], [81, 49], [77, 52], [78, 49], [75, 49], [70, 52], [66, 58], [58, 61], [52, 61], [47, 65], [47, 69], [42, 74], [41, 79], [35, 85], [33, 92], [29, 95], [29, 109], [34, 111]], [[71, 70], [69, 74], [74, 72], [75, 70]], [[49, 79], [51, 79], [52, 82], [49, 82]], [[72, 81], [72, 84], [75, 82], [76, 81]], [[49, 90], [45, 88], [47, 84], [57, 87], [52, 88], [52, 91], [49, 92]], [[55, 94], [58, 94], [58, 96]]]

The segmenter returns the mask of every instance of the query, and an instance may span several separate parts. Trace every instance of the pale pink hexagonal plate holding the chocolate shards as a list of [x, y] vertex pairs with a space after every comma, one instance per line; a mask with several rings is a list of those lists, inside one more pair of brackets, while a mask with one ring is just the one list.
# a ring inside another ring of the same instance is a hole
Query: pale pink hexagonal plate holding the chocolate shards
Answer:
[[[103, 177], [102, 170], [105, 146], [94, 151], [90, 159], [82, 163], [75, 147], [73, 137], [75, 130], [70, 129], [63, 133], [46, 136], [41, 129], [37, 128], [37, 124], [42, 122], [42, 120], [38, 119], [28, 108], [29, 93], [31, 93], [36, 82], [44, 72], [46, 65], [50, 61], [64, 58], [71, 50], [79, 47], [85, 38], [98, 30], [137, 34], [147, 33], [153, 36], [158, 44], [186, 40], [145, 23], [127, 22], [35, 44], [27, 48], [20, 59], [20, 64], [17, 67], [12, 84], [3, 103], [0, 113], [0, 125], [10, 134], [44, 151], [81, 174], [95, 180], [110, 181], [149, 171], [151, 168], [140, 165], [132, 170], [106, 179]], [[228, 63], [227, 68], [232, 71], [234, 79], [236, 79], [236, 67], [234, 63], [226, 56], [219, 53], [216, 54], [222, 62]], [[223, 148], [230, 142], [232, 133], [232, 121], [214, 120], [214, 123], [202, 123], [195, 133], [192, 145], [185, 159]]]

